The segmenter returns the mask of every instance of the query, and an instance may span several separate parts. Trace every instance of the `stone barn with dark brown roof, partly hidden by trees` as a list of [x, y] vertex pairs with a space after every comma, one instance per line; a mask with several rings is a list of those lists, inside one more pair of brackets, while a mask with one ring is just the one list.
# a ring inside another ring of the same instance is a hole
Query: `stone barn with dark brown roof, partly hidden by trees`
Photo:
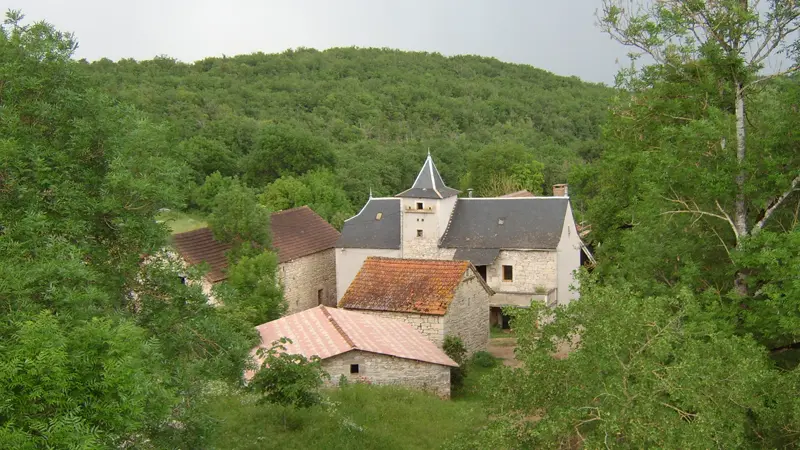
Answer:
[[[287, 313], [335, 306], [334, 244], [339, 232], [308, 206], [272, 213], [270, 226]], [[212, 285], [226, 278], [230, 245], [215, 240], [209, 228], [175, 234], [173, 244], [188, 264], [208, 263], [210, 270], [202, 283], [211, 298]]]

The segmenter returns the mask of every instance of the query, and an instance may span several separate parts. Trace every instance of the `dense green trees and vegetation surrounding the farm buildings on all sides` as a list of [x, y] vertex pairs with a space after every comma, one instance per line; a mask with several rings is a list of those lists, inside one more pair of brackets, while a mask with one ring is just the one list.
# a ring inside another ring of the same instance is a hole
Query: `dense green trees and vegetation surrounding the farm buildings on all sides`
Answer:
[[[87, 63], [9, 12], [0, 448], [800, 446], [800, 7], [645, 3], [603, 2], [598, 35], [650, 58], [615, 89], [393, 50]], [[270, 210], [341, 223], [429, 149], [482, 195], [568, 181], [581, 298], [508, 310], [520, 367], [466, 361], [450, 402], [278, 352], [242, 385], [284, 310]], [[164, 208], [233, 244], [219, 306], [160, 253]]]

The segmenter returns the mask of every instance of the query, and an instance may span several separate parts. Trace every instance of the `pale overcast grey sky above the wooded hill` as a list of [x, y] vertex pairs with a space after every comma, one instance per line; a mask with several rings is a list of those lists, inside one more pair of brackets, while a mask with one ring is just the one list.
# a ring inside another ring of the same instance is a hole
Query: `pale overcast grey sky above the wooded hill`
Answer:
[[477, 54], [611, 84], [626, 50], [595, 25], [601, 0], [10, 0], [75, 33], [78, 58], [191, 62], [287, 48]]

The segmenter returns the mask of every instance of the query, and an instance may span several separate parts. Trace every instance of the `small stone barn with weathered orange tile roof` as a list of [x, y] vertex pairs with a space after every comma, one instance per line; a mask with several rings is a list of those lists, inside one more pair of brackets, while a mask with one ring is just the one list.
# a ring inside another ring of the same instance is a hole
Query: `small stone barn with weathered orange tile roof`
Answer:
[[489, 343], [491, 296], [469, 261], [370, 256], [339, 307], [408, 323], [438, 346], [458, 336], [472, 354]]

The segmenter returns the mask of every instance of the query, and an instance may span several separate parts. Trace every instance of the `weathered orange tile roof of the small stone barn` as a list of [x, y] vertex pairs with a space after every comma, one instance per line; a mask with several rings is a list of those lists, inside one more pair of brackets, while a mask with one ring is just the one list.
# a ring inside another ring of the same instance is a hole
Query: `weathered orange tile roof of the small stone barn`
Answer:
[[369, 257], [339, 307], [444, 315], [468, 270], [480, 279], [469, 261]]

